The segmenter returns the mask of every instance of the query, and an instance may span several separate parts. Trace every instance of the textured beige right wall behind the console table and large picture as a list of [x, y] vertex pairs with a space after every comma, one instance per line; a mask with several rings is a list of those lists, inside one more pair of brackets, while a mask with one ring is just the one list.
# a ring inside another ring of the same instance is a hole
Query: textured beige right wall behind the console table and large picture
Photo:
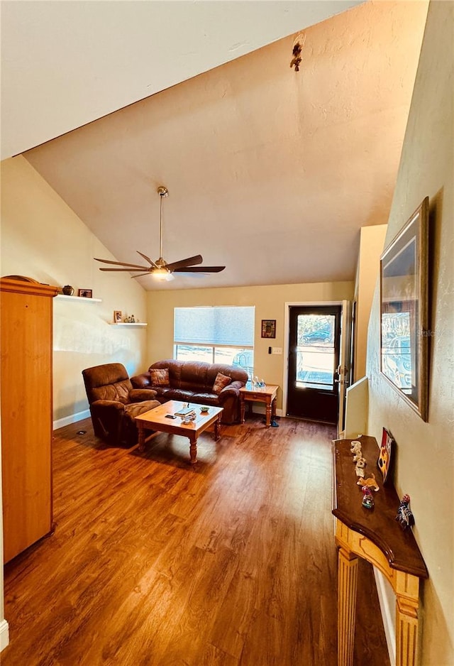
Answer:
[[454, 193], [453, 7], [431, 2], [402, 160], [389, 215], [387, 243], [428, 195], [431, 305], [428, 422], [414, 413], [379, 372], [379, 304], [370, 319], [369, 432], [382, 426], [397, 441], [395, 481], [409, 493], [416, 540], [429, 579], [422, 595], [423, 666], [454, 664]]

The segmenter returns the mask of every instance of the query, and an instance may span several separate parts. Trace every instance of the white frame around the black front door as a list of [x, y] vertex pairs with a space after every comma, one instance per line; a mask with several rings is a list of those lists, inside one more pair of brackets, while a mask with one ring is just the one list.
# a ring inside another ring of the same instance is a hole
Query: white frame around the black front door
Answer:
[[[350, 356], [348, 352], [348, 342], [350, 340], [350, 332], [348, 327], [344, 329], [343, 323], [345, 317], [350, 317], [351, 305], [350, 300], [309, 300], [309, 301], [296, 301], [284, 303], [284, 363], [283, 377], [282, 377], [282, 415], [287, 414], [287, 385], [289, 378], [289, 312], [291, 307], [325, 307], [330, 305], [341, 305], [341, 341], [340, 341], [340, 358], [339, 364], [341, 366], [350, 367]], [[345, 395], [345, 383], [339, 385], [339, 404], [343, 405]], [[339, 410], [341, 415], [341, 410]]]

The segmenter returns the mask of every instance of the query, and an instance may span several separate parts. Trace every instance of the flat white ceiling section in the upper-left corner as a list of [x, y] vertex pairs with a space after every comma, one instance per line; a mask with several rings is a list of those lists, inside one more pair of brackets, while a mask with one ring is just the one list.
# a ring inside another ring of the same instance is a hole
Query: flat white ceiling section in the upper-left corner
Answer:
[[362, 0], [1, 0], [1, 159]]

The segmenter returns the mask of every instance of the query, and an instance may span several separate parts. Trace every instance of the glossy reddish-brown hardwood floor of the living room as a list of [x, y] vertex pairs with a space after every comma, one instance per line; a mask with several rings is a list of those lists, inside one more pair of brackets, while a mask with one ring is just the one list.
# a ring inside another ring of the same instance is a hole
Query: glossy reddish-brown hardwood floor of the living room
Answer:
[[[195, 469], [181, 437], [139, 454], [89, 420], [54, 435], [55, 534], [6, 565], [1, 666], [336, 666], [333, 427], [224, 426]], [[366, 664], [389, 660], [360, 561]]]

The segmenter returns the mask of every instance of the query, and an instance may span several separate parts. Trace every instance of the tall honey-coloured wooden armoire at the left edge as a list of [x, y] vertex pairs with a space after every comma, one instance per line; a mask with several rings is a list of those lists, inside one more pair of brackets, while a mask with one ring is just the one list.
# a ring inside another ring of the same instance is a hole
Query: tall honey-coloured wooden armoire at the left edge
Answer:
[[52, 532], [52, 299], [30, 278], [0, 280], [4, 562]]

